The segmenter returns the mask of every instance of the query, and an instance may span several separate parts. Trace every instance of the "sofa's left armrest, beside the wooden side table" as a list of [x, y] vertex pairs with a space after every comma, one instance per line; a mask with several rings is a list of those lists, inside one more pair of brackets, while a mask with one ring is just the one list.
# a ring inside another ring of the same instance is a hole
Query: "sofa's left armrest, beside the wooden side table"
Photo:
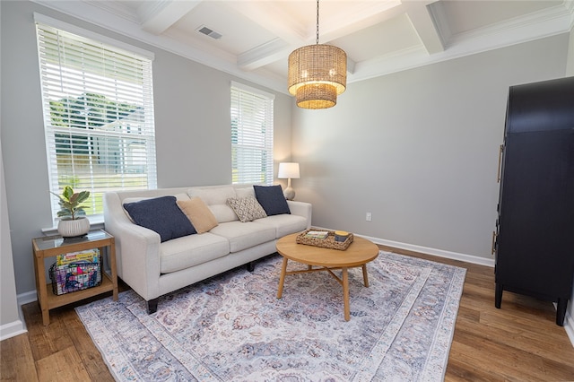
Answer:
[[160, 296], [160, 235], [130, 221], [117, 193], [104, 195], [104, 228], [116, 240], [117, 274], [145, 300]]

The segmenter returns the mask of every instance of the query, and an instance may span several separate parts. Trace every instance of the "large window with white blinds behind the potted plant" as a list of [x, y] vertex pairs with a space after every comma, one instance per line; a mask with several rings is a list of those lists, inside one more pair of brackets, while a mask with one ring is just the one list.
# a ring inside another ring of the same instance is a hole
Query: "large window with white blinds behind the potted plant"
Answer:
[[95, 216], [106, 191], [156, 188], [152, 54], [34, 16], [50, 190], [90, 191]]

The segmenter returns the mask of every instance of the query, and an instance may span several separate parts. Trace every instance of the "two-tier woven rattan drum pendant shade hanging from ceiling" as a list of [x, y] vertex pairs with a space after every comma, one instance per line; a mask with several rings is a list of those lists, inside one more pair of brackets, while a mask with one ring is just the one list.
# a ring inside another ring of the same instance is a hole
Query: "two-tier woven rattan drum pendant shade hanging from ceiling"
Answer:
[[347, 55], [343, 49], [316, 44], [289, 55], [288, 87], [303, 109], [327, 109], [347, 84]]

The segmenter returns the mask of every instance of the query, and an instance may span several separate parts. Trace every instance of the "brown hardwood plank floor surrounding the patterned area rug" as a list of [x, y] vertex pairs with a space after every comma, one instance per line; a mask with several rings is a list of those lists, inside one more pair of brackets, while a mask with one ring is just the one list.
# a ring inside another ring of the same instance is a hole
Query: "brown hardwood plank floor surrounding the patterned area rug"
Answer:
[[[467, 269], [446, 381], [574, 381], [574, 347], [552, 303], [505, 291], [497, 309], [492, 268], [380, 247]], [[0, 343], [3, 381], [113, 381], [74, 306], [51, 310], [49, 326], [38, 303], [22, 309], [28, 333]]]

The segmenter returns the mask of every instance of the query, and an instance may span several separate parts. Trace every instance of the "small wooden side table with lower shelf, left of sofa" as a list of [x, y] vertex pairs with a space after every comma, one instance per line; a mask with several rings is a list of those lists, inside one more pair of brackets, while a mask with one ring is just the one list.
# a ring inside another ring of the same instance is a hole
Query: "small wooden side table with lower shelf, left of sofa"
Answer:
[[[109, 248], [109, 267], [111, 274], [104, 271], [104, 251]], [[45, 326], [50, 323], [49, 309], [58, 308], [75, 301], [97, 296], [107, 291], [113, 291], [114, 301], [117, 301], [117, 268], [116, 268], [116, 241], [105, 230], [93, 230], [82, 238], [64, 239], [61, 236], [45, 236], [32, 239], [34, 252], [34, 272], [36, 273], [36, 291], [38, 292], [39, 306], [42, 310], [42, 321]], [[101, 283], [98, 286], [74, 291], [57, 296], [52, 292], [51, 283], [46, 282], [45, 257], [64, 255], [86, 249], [100, 248], [101, 256]]]

